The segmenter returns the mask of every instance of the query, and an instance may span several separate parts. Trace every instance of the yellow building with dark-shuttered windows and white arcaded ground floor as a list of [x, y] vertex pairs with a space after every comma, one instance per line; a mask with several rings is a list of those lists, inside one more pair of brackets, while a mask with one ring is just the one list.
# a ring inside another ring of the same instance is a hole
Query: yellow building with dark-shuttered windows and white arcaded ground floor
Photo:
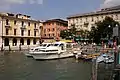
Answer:
[[0, 13], [0, 47], [35, 46], [41, 37], [42, 23], [23, 14]]

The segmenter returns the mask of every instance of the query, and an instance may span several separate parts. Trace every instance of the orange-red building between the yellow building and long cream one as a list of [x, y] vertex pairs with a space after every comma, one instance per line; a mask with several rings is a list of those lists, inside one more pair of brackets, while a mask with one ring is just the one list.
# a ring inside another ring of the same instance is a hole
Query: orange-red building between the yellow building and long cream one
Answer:
[[42, 39], [60, 40], [60, 32], [68, 29], [68, 22], [62, 19], [51, 19], [43, 22]]

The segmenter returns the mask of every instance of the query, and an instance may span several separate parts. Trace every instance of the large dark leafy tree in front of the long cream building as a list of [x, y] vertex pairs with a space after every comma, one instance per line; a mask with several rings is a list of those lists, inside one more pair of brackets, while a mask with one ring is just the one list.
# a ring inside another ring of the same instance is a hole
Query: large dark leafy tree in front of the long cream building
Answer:
[[96, 43], [100, 43], [101, 38], [110, 39], [113, 34], [113, 27], [115, 27], [116, 24], [119, 25], [119, 23], [112, 18], [105, 17], [103, 21], [95, 23], [96, 27], [91, 28], [89, 38], [94, 39]]

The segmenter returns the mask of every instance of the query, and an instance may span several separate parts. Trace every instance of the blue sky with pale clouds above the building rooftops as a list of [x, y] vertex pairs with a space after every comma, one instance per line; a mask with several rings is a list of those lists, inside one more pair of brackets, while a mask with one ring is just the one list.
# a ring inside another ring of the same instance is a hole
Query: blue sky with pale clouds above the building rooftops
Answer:
[[0, 0], [0, 12], [27, 14], [38, 20], [65, 19], [119, 4], [120, 0]]

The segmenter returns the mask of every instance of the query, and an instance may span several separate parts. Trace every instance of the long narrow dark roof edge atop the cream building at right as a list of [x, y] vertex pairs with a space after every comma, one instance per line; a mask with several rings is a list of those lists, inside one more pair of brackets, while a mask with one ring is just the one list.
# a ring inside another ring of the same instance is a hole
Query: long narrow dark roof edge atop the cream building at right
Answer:
[[109, 13], [120, 13], [120, 9], [118, 9], [118, 10], [100, 10], [100, 11], [84, 13], [84, 14], [76, 14], [76, 15], [68, 16], [67, 19], [78, 18], [78, 17], [88, 17], [88, 16], [109, 14]]

